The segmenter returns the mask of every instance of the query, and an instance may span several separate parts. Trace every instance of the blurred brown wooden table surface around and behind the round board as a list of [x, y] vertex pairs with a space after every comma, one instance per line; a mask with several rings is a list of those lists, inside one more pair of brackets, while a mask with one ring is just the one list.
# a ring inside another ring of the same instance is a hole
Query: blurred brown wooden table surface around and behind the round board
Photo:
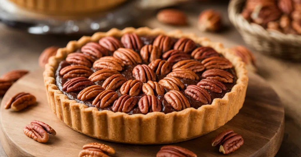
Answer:
[[[214, 8], [223, 15], [224, 31], [220, 33], [202, 33], [196, 27], [197, 15], [204, 8]], [[189, 27], [172, 27], [149, 21], [141, 21], [138, 26], [160, 27], [163, 29], [181, 29], [183, 32], [193, 32], [198, 36], [207, 36], [213, 41], [223, 39], [225, 46], [231, 43], [244, 44], [239, 33], [231, 25], [227, 16], [226, 4], [183, 5], [181, 9], [189, 15]], [[38, 57], [45, 47], [57, 45], [64, 47], [68, 41], [77, 40], [79, 36], [31, 35], [0, 24], [0, 75], [14, 69], [36, 70]], [[300, 50], [301, 51], [301, 50]], [[258, 74], [272, 85], [281, 98], [285, 108], [285, 134], [277, 157], [301, 156], [301, 62], [291, 62], [254, 52], [257, 58]], [[0, 101], [2, 99], [0, 98]], [[0, 156], [6, 156], [0, 147]]]

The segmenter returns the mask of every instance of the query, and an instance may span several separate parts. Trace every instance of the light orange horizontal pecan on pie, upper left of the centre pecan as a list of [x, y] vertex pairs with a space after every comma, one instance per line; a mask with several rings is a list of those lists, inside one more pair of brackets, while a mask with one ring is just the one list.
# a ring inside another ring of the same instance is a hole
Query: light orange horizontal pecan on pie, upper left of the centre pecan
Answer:
[[93, 68], [95, 69], [111, 69], [122, 71], [123, 67], [124, 64], [122, 60], [112, 56], [101, 57], [100, 59], [96, 60], [93, 64]]

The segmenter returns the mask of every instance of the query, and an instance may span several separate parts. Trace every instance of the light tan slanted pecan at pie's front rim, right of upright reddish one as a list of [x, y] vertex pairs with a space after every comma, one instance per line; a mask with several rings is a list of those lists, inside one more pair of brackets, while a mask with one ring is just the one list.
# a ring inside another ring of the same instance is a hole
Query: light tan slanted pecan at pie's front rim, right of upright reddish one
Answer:
[[164, 98], [176, 111], [190, 107], [188, 99], [179, 91], [171, 90], [164, 95]]

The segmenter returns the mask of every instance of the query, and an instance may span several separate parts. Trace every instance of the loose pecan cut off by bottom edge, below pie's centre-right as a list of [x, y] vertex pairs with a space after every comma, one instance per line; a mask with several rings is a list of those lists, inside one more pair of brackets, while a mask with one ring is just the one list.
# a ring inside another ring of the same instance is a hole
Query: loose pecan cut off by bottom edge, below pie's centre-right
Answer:
[[179, 146], [163, 146], [160, 151], [157, 152], [157, 157], [197, 157], [194, 152]]

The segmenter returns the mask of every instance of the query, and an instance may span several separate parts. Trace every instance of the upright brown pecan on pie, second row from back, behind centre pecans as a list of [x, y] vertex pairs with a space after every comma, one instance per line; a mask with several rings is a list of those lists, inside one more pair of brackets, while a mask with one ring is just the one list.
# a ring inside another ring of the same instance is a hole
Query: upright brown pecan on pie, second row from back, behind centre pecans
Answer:
[[140, 50], [140, 55], [144, 62], [152, 62], [160, 58], [161, 50], [157, 46], [144, 45]]

